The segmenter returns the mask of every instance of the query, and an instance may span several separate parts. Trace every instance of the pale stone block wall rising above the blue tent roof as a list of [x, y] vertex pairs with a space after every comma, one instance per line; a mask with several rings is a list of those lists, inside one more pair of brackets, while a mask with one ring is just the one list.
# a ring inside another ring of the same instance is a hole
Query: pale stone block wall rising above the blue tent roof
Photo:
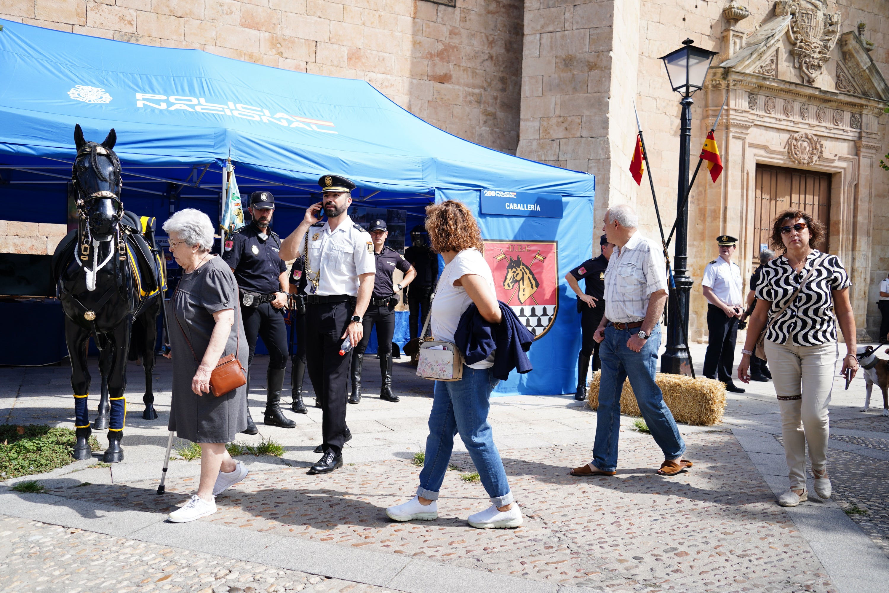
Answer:
[[521, 0], [4, 0], [0, 17], [361, 78], [428, 123], [515, 154]]

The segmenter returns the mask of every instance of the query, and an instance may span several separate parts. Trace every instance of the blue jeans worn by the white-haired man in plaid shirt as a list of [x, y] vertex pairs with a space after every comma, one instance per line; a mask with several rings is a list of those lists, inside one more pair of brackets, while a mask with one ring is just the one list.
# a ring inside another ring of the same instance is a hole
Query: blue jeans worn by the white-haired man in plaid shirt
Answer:
[[599, 409], [596, 421], [596, 445], [593, 461], [602, 471], [617, 469], [617, 445], [621, 429], [621, 391], [629, 376], [645, 424], [652, 431], [654, 442], [661, 447], [664, 459], [675, 460], [685, 453], [685, 442], [679, 435], [673, 414], [664, 404], [661, 388], [654, 382], [661, 348], [661, 325], [655, 325], [652, 337], [639, 352], [627, 348], [629, 336], [638, 329], [618, 330], [605, 327], [605, 340], [599, 346], [602, 359], [602, 379], [599, 381]]

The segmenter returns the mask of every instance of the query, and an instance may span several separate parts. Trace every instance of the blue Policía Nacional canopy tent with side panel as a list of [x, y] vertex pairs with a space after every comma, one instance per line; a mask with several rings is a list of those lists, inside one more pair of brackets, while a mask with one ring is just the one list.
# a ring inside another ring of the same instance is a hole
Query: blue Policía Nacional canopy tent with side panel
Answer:
[[422, 221], [426, 205], [458, 199], [476, 213], [484, 238], [501, 242], [501, 260], [517, 254], [509, 244], [521, 252], [541, 242], [538, 269], [556, 275], [541, 280], [555, 283], [557, 309], [531, 349], [535, 370], [513, 373], [498, 392], [573, 393], [580, 323], [562, 278], [591, 253], [593, 176], [461, 140], [364, 81], [0, 25], [0, 219], [68, 220], [75, 124], [96, 141], [116, 129], [124, 206], [159, 224], [186, 207], [219, 220], [228, 157], [243, 194], [275, 194], [282, 235], [317, 201], [325, 172], [356, 182], [353, 205], [404, 209], [407, 228]]

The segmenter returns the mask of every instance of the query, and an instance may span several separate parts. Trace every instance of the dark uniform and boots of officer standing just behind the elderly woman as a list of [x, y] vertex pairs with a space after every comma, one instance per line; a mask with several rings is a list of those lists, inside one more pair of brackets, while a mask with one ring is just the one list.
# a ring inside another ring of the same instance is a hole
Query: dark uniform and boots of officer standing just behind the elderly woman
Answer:
[[[296, 423], [287, 419], [279, 407], [287, 368], [287, 326], [284, 309], [271, 305], [275, 293], [281, 292], [278, 276], [287, 271], [287, 266], [278, 257], [281, 239], [270, 230], [268, 233], [253, 223], [232, 233], [223, 246], [222, 259], [235, 270], [244, 334], [250, 346], [248, 360], [253, 361], [257, 336], [262, 336], [268, 349], [265, 423], [292, 428]], [[248, 385], [250, 375], [248, 368]]]

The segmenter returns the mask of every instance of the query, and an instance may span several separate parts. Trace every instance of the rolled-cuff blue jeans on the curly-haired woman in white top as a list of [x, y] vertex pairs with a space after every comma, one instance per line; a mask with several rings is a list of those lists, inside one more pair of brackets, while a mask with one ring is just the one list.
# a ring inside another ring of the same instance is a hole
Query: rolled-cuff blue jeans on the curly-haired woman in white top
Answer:
[[491, 501], [498, 507], [513, 501], [506, 470], [488, 424], [489, 399], [499, 382], [493, 378], [491, 369], [471, 369], [466, 365], [460, 381], [436, 381], [429, 413], [426, 461], [420, 471], [417, 495], [430, 501], [438, 500], [438, 491], [451, 462], [453, 437], [459, 432]]

